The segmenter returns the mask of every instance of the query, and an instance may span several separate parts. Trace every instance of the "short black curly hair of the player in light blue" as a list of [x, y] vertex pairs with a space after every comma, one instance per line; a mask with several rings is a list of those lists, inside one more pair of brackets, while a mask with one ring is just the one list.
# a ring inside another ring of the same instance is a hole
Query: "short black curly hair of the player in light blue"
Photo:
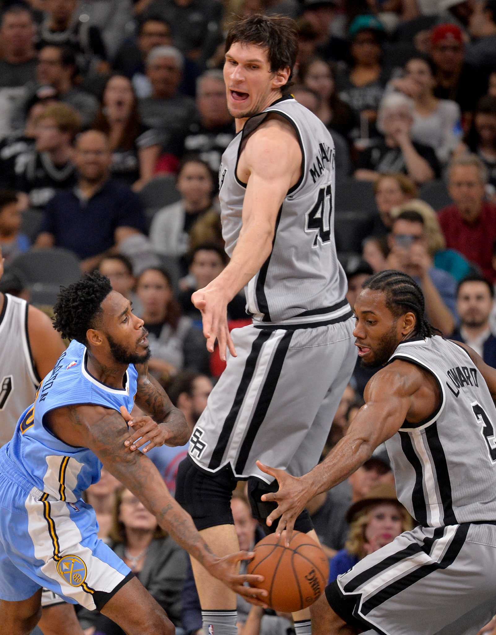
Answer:
[[86, 331], [97, 328], [101, 303], [112, 291], [110, 280], [98, 271], [69, 286], [61, 287], [53, 312], [53, 326], [63, 338], [88, 344]]

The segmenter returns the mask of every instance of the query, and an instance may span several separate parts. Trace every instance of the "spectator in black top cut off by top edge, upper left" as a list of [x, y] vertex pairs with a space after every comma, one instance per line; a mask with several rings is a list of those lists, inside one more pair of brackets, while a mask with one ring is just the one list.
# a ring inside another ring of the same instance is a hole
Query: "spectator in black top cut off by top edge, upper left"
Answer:
[[88, 19], [79, 19], [77, 0], [45, 0], [46, 18], [38, 30], [38, 48], [69, 46], [74, 50], [79, 71], [108, 72], [107, 51], [100, 29]]

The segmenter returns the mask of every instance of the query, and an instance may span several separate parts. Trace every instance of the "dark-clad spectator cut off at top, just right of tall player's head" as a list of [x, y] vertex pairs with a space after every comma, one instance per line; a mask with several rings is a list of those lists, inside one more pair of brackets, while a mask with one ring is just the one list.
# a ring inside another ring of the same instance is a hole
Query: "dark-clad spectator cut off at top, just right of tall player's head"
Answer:
[[325, 60], [345, 60], [348, 43], [342, 37], [331, 35], [332, 24], [339, 10], [337, 0], [304, 0], [302, 18], [308, 22], [315, 34], [315, 52]]

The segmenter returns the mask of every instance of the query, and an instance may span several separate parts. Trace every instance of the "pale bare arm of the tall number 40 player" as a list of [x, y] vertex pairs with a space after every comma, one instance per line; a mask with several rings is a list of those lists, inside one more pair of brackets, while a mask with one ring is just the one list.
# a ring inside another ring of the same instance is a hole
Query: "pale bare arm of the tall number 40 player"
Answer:
[[227, 328], [228, 302], [270, 256], [280, 206], [301, 170], [301, 150], [288, 126], [271, 120], [248, 139], [242, 158], [249, 177], [237, 244], [224, 271], [192, 296], [202, 312], [207, 349], [212, 352], [218, 338], [221, 359], [225, 359], [226, 344], [235, 354]]

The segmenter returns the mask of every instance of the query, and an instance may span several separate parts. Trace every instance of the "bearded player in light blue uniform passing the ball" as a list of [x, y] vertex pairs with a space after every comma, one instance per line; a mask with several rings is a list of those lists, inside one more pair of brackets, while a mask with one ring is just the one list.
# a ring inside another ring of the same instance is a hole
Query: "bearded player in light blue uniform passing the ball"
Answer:
[[[98, 540], [81, 495], [102, 464], [211, 575], [261, 603], [264, 594], [243, 585], [259, 577], [236, 573], [249, 554], [218, 558], [146, 454], [133, 451], [148, 441], [183, 445], [191, 431], [148, 375], [147, 332], [129, 300], [95, 273], [63, 289], [54, 311], [56, 330], [72, 342], [0, 450], [0, 634], [30, 633], [41, 587], [98, 608], [129, 635], [173, 634], [164, 610]], [[134, 401], [153, 419], [131, 419]]]

